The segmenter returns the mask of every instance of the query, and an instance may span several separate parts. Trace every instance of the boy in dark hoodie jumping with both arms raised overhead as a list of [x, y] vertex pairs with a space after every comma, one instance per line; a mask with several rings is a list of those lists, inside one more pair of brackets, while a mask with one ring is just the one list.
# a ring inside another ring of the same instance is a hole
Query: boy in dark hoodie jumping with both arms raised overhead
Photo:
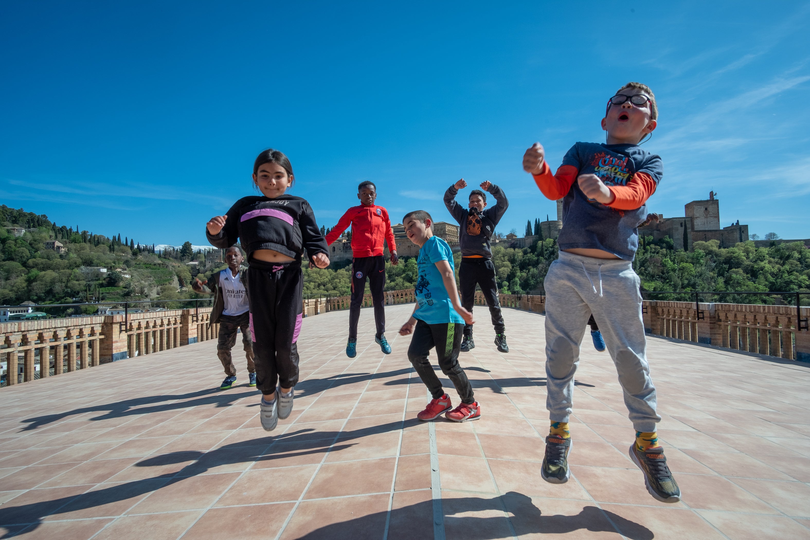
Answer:
[[[495, 327], [495, 344], [498, 351], [509, 352], [504, 334], [504, 318], [501, 315], [501, 302], [498, 300], [498, 283], [495, 277], [495, 266], [492, 264], [492, 251], [489, 239], [495, 227], [501, 221], [509, 207], [509, 201], [501, 188], [491, 182], [481, 182], [481, 189], [488, 191], [495, 198], [496, 204], [487, 208], [487, 195], [480, 189], [473, 189], [467, 199], [467, 208], [455, 201], [459, 189], [467, 187], [462, 178], [445, 192], [445, 206], [458, 221], [458, 241], [461, 244], [461, 267], [458, 269], [458, 280], [461, 284], [461, 301], [464, 309], [472, 313], [475, 304], [475, 285], [480, 285], [484, 299], [489, 306], [492, 326]], [[461, 344], [463, 352], [475, 347], [472, 340], [472, 325], [464, 325], [464, 339]]]

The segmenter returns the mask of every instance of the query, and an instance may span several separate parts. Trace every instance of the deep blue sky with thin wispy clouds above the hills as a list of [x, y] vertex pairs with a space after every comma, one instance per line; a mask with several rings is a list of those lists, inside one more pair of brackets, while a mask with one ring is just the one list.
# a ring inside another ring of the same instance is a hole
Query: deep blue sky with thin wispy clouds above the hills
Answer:
[[377, 183], [394, 221], [450, 220], [452, 182], [492, 181], [498, 230], [555, 215], [552, 168], [604, 140], [622, 84], [656, 94], [651, 211], [718, 193], [721, 224], [810, 237], [810, 4], [780, 2], [3, 2], [0, 202], [143, 243], [205, 244], [254, 193], [266, 147], [318, 223]]

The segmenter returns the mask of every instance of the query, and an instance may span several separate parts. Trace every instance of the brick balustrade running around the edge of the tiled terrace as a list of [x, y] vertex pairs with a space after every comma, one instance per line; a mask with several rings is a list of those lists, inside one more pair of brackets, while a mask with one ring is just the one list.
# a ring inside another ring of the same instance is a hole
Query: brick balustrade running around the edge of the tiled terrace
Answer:
[[[386, 305], [416, 301], [413, 289], [386, 291]], [[545, 313], [545, 296], [501, 294], [501, 305]], [[304, 300], [305, 317], [348, 309], [350, 296]], [[485, 305], [475, 293], [475, 304]], [[370, 294], [363, 307], [371, 307]], [[796, 308], [761, 304], [699, 304], [644, 300], [647, 333], [700, 342], [761, 355], [810, 362], [810, 332], [798, 330]], [[810, 317], [810, 308], [801, 308]], [[211, 308], [173, 309], [123, 315], [72, 317], [0, 324], [0, 361], [6, 362], [8, 385], [28, 382], [98, 366], [115, 360], [148, 355], [215, 339], [219, 325], [211, 325]], [[126, 320], [126, 322], [125, 322]], [[53, 368], [36, 370], [48, 356]], [[15, 377], [22, 357], [23, 374]]]

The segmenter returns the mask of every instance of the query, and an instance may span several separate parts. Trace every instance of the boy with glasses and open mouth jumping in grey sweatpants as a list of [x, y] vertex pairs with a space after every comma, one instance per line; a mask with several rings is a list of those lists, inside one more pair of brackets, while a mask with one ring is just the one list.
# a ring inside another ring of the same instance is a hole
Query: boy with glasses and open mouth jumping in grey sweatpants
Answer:
[[546, 408], [551, 428], [541, 475], [550, 483], [569, 478], [569, 415], [573, 376], [589, 313], [607, 344], [625, 406], [636, 430], [633, 462], [644, 473], [647, 491], [665, 503], [680, 500], [658, 443], [656, 394], [646, 357], [639, 279], [633, 271], [637, 227], [645, 222], [645, 202], [663, 176], [661, 158], [639, 142], [655, 129], [658, 108], [644, 84], [627, 83], [608, 100], [602, 119], [606, 143], [577, 142], [552, 174], [539, 142], [523, 155], [523, 168], [552, 201], [563, 199], [563, 226], [546, 289]]

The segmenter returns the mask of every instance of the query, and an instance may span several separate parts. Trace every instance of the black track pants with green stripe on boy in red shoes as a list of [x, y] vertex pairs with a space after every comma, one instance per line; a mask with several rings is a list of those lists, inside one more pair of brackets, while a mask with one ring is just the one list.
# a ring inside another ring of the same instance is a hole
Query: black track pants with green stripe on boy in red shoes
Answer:
[[475, 402], [472, 386], [467, 379], [467, 373], [458, 365], [458, 352], [461, 351], [461, 338], [464, 325], [461, 323], [442, 323], [428, 325], [424, 321], [416, 320], [413, 330], [411, 347], [408, 347], [407, 358], [411, 360], [420, 379], [430, 390], [433, 399], [441, 398], [445, 391], [441, 388], [441, 381], [430, 365], [428, 352], [436, 347], [436, 356], [441, 372], [450, 377], [458, 392], [458, 397], [464, 403]]

